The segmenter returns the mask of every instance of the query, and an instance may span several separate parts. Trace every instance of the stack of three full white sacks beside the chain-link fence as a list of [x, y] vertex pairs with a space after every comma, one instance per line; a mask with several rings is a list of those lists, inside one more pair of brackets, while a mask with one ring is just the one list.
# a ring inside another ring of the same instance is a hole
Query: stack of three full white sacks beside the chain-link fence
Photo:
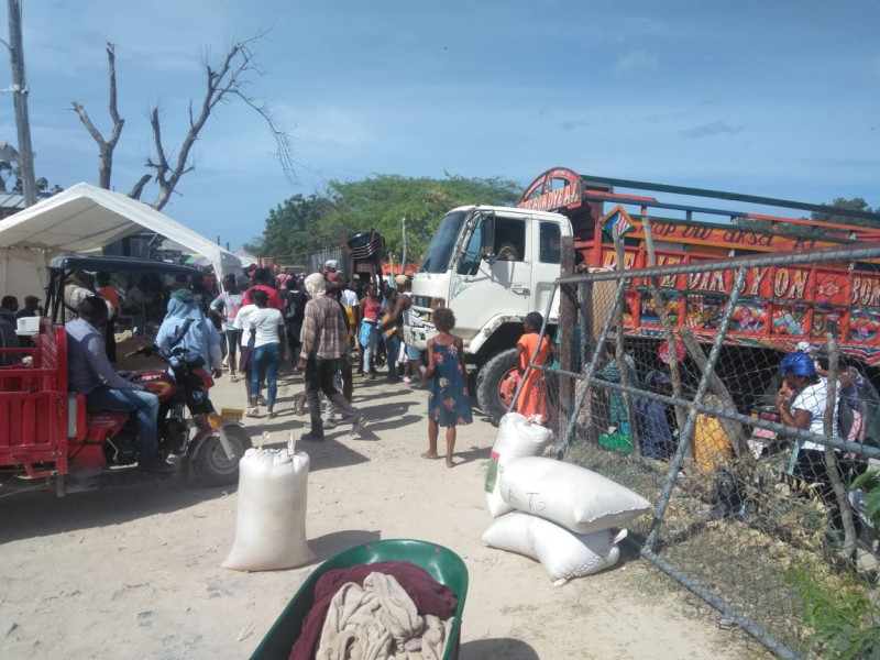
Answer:
[[[493, 447], [498, 469], [490, 490], [490, 468], [486, 499], [497, 520], [483, 542], [538, 560], [558, 585], [613, 566], [620, 557], [617, 543], [626, 537], [620, 528], [650, 510], [651, 504], [591, 470], [538, 455], [547, 444], [541, 447], [536, 438], [543, 431], [549, 443], [549, 431], [528, 428], [535, 425], [522, 416], [506, 420], [512, 415], [502, 419]], [[519, 438], [512, 438], [512, 431]], [[506, 457], [510, 447], [519, 455]]]

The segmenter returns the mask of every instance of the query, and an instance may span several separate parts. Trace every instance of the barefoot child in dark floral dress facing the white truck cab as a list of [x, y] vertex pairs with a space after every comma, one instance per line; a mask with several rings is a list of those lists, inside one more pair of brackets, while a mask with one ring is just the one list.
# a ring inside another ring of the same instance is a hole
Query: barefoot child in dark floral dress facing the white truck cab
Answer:
[[471, 424], [471, 399], [468, 396], [468, 372], [464, 369], [464, 343], [451, 334], [455, 315], [441, 307], [433, 312], [437, 337], [428, 340], [428, 369], [421, 375], [428, 382], [428, 451], [422, 459], [439, 459], [437, 437], [447, 428], [447, 468], [452, 468], [455, 449], [455, 426]]

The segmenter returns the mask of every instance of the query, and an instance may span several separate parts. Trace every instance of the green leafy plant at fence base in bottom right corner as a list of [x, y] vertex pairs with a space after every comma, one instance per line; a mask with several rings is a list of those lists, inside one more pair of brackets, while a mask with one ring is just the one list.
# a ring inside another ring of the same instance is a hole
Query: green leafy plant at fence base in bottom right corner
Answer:
[[810, 571], [792, 569], [785, 582], [796, 591], [796, 601], [813, 630], [807, 645], [822, 658], [880, 660], [880, 608], [871, 603], [867, 585], [853, 578], [831, 585]]

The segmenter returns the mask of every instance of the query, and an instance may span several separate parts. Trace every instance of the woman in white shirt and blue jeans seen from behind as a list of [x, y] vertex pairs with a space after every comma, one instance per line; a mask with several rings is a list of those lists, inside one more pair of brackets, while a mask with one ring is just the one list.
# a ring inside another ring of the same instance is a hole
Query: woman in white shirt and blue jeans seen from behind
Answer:
[[[260, 374], [266, 375], [266, 417], [276, 417], [274, 406], [278, 394], [278, 364], [282, 361], [282, 337], [284, 316], [274, 307], [268, 307], [268, 295], [260, 289], [251, 289], [251, 300], [256, 309], [248, 317], [249, 331], [253, 334], [251, 353], [251, 407], [246, 415], [255, 417], [260, 392]], [[250, 337], [249, 337], [250, 341]]]

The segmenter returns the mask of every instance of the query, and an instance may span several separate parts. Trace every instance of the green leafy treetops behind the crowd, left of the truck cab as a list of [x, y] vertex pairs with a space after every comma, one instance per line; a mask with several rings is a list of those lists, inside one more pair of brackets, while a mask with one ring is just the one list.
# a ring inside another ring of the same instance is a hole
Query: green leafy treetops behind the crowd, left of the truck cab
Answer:
[[501, 178], [376, 175], [359, 182], [333, 180], [324, 196], [297, 195], [270, 211], [258, 254], [302, 255], [340, 245], [350, 233], [375, 229], [399, 260], [406, 218], [407, 260], [416, 261], [450, 209], [466, 204], [509, 206], [519, 196], [519, 185]]

